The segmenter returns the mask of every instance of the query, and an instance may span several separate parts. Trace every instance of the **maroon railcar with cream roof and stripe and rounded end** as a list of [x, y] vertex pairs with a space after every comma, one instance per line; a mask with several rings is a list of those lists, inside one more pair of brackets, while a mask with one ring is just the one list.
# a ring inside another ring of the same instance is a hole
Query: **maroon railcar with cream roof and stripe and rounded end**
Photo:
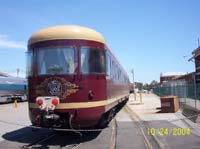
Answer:
[[29, 116], [39, 127], [82, 128], [108, 121], [129, 97], [129, 79], [103, 36], [55, 26], [28, 41]]

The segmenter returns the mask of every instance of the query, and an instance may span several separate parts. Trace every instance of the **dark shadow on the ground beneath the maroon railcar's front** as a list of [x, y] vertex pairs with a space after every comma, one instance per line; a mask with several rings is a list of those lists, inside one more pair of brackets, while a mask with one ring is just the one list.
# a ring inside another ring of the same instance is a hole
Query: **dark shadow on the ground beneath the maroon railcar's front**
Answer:
[[65, 147], [91, 141], [97, 138], [101, 132], [82, 132], [79, 135], [72, 131], [55, 131], [45, 128], [32, 131], [31, 127], [24, 127], [4, 134], [3, 138], [5, 141], [1, 142], [0, 147], [4, 146], [9, 148], [15, 146], [15, 144], [21, 148], [30, 146], [36, 148], [49, 148], [48, 146]]

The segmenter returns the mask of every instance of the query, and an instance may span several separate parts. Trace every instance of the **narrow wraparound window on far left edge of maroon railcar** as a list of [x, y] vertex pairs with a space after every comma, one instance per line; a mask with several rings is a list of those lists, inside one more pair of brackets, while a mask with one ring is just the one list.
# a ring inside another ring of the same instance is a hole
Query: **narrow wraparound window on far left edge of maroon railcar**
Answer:
[[27, 63], [26, 63], [26, 77], [32, 76], [33, 75], [33, 70], [32, 70], [32, 63], [33, 63], [33, 52], [29, 51], [27, 52]]

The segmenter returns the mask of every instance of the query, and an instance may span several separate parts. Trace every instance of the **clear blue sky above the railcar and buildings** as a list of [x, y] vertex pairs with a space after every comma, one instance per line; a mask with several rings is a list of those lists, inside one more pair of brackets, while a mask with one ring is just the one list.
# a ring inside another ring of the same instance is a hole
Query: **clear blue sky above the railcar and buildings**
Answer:
[[132, 81], [192, 72], [200, 37], [199, 0], [0, 0], [0, 71], [26, 72], [27, 41], [35, 31], [80, 25], [100, 32]]

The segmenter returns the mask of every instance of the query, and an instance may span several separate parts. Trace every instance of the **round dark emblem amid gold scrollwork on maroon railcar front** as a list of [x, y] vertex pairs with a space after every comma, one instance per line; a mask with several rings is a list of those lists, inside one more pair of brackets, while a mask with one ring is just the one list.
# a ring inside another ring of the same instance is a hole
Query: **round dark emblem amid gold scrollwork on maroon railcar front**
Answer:
[[53, 80], [48, 83], [47, 88], [50, 95], [59, 96], [61, 94], [62, 84], [57, 80]]

